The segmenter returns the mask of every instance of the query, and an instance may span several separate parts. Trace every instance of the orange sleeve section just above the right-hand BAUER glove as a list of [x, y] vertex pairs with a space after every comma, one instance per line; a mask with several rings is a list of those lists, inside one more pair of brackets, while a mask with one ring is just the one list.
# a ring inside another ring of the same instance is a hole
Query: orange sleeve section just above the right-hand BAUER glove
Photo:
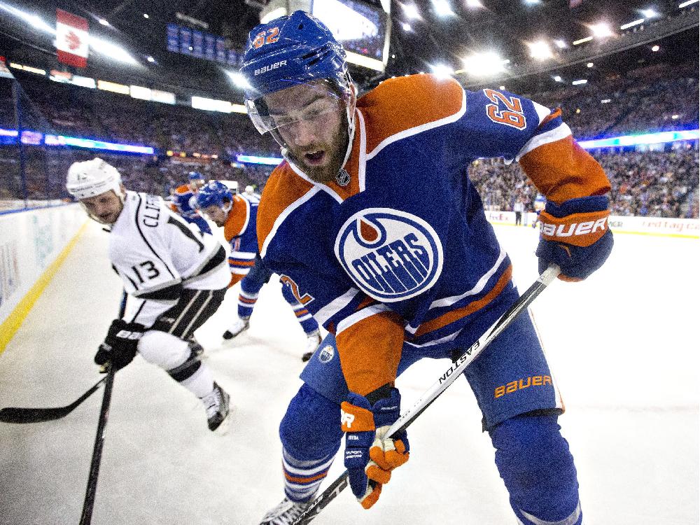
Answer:
[[528, 151], [519, 162], [540, 193], [556, 204], [610, 191], [601, 165], [570, 135]]

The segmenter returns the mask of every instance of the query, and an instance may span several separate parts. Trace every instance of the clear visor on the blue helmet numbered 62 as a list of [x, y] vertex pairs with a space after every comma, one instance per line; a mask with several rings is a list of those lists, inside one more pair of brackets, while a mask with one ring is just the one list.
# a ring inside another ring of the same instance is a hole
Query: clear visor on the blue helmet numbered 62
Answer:
[[295, 123], [321, 122], [323, 117], [338, 111], [343, 99], [327, 80], [299, 84], [246, 99], [248, 116], [260, 134], [283, 130]]

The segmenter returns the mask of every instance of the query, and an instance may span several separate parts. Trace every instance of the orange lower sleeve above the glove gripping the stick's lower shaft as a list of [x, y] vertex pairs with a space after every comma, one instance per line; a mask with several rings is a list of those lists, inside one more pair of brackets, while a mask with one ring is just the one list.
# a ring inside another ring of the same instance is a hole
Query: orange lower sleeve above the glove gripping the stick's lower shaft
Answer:
[[340, 366], [351, 392], [360, 395], [393, 384], [401, 360], [403, 323], [393, 311], [358, 321], [335, 336]]

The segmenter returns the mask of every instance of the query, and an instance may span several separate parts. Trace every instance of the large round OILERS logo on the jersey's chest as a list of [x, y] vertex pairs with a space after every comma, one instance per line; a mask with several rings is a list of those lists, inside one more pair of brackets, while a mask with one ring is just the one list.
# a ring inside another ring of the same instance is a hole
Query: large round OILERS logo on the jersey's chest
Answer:
[[335, 255], [360, 289], [382, 302], [427, 290], [444, 261], [433, 227], [391, 208], [364, 209], [351, 216], [340, 228]]

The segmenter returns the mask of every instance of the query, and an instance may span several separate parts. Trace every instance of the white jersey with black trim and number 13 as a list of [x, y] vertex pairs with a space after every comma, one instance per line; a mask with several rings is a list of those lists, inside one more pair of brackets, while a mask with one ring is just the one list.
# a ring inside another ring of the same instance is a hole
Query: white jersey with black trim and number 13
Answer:
[[126, 321], [151, 327], [183, 288], [226, 288], [223, 245], [167, 209], [161, 197], [127, 191], [109, 235], [109, 260], [130, 295]]

